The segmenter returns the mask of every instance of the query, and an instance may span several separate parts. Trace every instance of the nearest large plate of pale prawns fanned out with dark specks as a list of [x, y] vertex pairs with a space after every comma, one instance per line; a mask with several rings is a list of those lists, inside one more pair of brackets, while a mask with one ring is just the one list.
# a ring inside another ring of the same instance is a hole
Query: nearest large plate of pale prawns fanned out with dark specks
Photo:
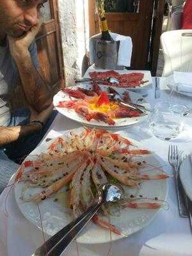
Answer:
[[43, 143], [15, 177], [15, 199], [24, 216], [53, 235], [86, 211], [106, 183], [124, 189], [118, 204], [104, 205], [77, 237], [107, 243], [147, 226], [167, 209], [167, 179], [153, 152], [124, 132], [76, 129]]

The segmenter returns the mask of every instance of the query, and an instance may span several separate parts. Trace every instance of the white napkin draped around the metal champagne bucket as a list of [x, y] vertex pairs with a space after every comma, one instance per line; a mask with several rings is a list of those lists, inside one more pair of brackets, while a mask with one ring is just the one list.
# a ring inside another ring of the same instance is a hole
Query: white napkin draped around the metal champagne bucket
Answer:
[[[132, 39], [130, 36], [122, 36], [116, 33], [110, 33], [113, 40], [120, 41], [120, 49], [118, 51], [118, 66], [131, 66], [131, 56], [132, 56]], [[99, 39], [101, 33], [94, 35], [90, 38], [90, 64], [95, 63], [95, 39]]]

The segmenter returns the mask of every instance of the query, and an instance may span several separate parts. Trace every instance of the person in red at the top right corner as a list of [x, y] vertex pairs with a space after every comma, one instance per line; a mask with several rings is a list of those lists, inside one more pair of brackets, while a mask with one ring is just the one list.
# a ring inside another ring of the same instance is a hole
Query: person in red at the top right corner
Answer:
[[181, 29], [192, 29], [192, 0], [187, 0], [184, 5]]

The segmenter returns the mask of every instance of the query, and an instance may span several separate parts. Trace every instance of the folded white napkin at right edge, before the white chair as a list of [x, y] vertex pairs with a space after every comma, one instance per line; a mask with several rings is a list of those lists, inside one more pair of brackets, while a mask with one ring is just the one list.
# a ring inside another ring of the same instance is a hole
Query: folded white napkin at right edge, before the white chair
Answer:
[[174, 72], [177, 91], [192, 93], [192, 72]]

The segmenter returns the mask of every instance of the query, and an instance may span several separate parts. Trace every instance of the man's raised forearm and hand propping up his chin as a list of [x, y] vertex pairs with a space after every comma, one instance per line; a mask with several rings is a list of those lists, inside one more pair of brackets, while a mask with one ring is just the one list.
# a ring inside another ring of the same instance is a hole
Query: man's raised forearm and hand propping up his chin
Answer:
[[17, 64], [26, 99], [38, 112], [47, 108], [52, 102], [51, 89], [36, 70], [29, 52], [29, 46], [35, 39], [40, 26], [41, 23], [38, 22], [31, 31], [19, 38], [8, 36], [10, 52]]

